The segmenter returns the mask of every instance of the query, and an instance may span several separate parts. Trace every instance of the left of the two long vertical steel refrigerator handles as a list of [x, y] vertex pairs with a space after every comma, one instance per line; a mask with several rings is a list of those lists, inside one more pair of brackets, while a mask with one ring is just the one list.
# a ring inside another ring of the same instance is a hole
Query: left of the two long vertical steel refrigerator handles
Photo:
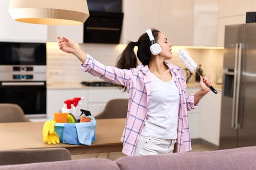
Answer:
[[238, 59], [239, 44], [236, 43], [236, 54], [235, 54], [235, 68], [234, 68], [234, 88], [233, 88], [233, 103], [232, 103], [232, 120], [231, 127], [236, 128], [235, 115], [236, 115], [236, 80], [237, 80], [237, 59]]

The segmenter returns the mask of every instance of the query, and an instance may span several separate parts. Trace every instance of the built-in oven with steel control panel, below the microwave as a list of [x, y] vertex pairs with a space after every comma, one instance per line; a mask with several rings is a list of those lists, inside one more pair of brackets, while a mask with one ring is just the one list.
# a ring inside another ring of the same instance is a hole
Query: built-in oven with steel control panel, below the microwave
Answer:
[[46, 66], [0, 66], [0, 94], [0, 103], [20, 105], [27, 117], [46, 117]]

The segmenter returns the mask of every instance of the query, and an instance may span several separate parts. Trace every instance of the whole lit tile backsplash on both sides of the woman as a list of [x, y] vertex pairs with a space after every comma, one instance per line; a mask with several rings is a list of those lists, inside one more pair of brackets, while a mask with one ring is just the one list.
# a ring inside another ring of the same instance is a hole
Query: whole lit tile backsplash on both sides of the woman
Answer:
[[[78, 44], [86, 53], [106, 66], [115, 66], [119, 54], [126, 47], [125, 44]], [[185, 68], [177, 53], [181, 47], [173, 46], [173, 58], [168, 62]], [[185, 48], [185, 47], [182, 47]], [[185, 48], [197, 63], [201, 64], [203, 74], [214, 83], [221, 77], [223, 65], [223, 49], [195, 49]], [[59, 50], [58, 43], [47, 43], [47, 83], [80, 83], [82, 81], [100, 81], [89, 73], [81, 71], [81, 63], [73, 54]], [[195, 81], [195, 72], [191, 81]]]

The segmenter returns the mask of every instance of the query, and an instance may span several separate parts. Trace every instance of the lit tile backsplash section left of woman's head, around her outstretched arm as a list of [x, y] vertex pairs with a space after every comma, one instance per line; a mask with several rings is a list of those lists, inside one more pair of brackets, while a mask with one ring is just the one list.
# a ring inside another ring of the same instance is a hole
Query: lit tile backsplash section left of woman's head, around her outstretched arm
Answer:
[[[79, 44], [83, 51], [94, 56], [99, 62], [114, 66], [124, 45]], [[80, 61], [72, 54], [58, 48], [57, 43], [47, 43], [47, 83], [99, 81], [98, 77], [82, 73]]]

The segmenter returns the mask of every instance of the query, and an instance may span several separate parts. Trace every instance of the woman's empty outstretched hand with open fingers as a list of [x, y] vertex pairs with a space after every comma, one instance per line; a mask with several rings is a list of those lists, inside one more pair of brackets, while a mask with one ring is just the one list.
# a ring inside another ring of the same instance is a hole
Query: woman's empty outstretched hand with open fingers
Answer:
[[62, 38], [58, 36], [59, 39], [59, 49], [65, 51], [67, 53], [75, 53], [78, 50], [78, 47], [74, 43], [73, 40], [68, 39], [67, 37], [63, 36]]

